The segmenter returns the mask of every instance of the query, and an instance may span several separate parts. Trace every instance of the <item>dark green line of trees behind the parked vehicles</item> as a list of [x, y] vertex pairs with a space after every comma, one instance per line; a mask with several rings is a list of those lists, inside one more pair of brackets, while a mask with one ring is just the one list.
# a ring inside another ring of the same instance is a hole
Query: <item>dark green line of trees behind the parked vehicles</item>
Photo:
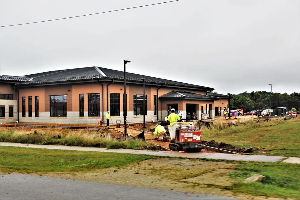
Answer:
[[264, 106], [286, 107], [286, 111], [300, 110], [300, 94], [271, 93], [266, 91], [243, 92], [240, 94], [230, 94], [230, 108], [243, 109], [244, 113], [251, 110], [261, 109]]

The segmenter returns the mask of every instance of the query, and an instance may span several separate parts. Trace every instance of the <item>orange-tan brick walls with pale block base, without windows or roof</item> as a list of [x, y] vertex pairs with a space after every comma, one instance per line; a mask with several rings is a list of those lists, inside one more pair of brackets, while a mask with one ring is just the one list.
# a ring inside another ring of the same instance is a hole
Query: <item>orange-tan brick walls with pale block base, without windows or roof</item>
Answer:
[[[102, 89], [102, 85], [103, 89]], [[124, 123], [123, 118], [123, 94], [124, 94], [124, 84], [122, 83], [112, 83], [112, 82], [101, 82], [101, 84], [93, 83], [82, 83], [82, 84], [61, 84], [61, 85], [47, 85], [38, 87], [25, 87], [19, 88], [19, 121], [26, 123], [61, 123], [61, 124], [98, 124], [98, 121], [104, 119], [104, 124], [106, 124], [105, 114], [107, 109], [110, 109], [110, 93], [120, 94], [120, 116], [111, 117], [111, 123], [115, 124], [117, 120]], [[108, 85], [108, 90], [107, 90]], [[2, 87], [1, 92], [12, 91], [11, 86]], [[159, 89], [158, 89], [159, 88]], [[153, 120], [164, 121], [167, 115], [167, 104], [178, 104], [178, 109], [184, 111], [186, 116], [186, 104], [196, 104], [197, 116], [201, 115], [201, 106], [211, 105], [214, 109], [214, 101], [203, 101], [203, 100], [168, 100], [161, 101], [158, 100], [158, 113], [154, 115], [154, 105], [153, 97], [154, 95], [160, 97], [163, 94], [176, 91], [187, 91], [196, 94], [205, 95], [205, 91], [178, 89], [174, 87], [162, 87], [159, 86], [145, 86], [145, 95], [147, 95], [147, 115], [146, 122]], [[158, 92], [158, 94], [157, 94]], [[100, 93], [100, 117], [88, 117], [88, 94]], [[128, 123], [139, 123], [143, 122], [143, 115], [134, 115], [134, 104], [133, 96], [134, 94], [143, 95], [143, 84], [131, 84], [128, 83], [126, 87], [127, 93], [127, 120]], [[84, 94], [84, 117], [79, 117], [79, 94]], [[67, 116], [66, 117], [50, 117], [50, 96], [52, 95], [67, 95]], [[28, 117], [28, 97], [32, 97], [32, 117]], [[35, 96], [39, 97], [39, 116], [35, 117]], [[22, 117], [22, 97], [26, 100], [26, 116]], [[108, 99], [107, 99], [108, 97]], [[17, 106], [16, 106], [17, 107]], [[213, 113], [214, 110], [210, 111]], [[14, 115], [17, 117], [17, 114]]]

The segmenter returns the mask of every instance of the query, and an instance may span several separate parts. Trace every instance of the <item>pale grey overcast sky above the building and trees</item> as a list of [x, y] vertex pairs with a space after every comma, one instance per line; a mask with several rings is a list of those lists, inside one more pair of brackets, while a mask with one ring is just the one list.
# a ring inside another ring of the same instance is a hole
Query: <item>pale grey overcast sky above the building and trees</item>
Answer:
[[[0, 25], [167, 1], [1, 0]], [[0, 74], [98, 66], [214, 88], [300, 92], [300, 1], [174, 1], [0, 29]]]

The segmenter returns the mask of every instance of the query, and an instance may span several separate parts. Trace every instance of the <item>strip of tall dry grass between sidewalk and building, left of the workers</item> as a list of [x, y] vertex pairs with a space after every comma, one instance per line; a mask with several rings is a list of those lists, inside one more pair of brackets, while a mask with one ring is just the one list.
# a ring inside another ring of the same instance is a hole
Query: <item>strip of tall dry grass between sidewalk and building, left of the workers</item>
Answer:
[[[58, 138], [57, 135], [61, 135]], [[0, 131], [0, 142], [28, 143], [37, 145], [65, 145], [80, 147], [101, 147], [107, 149], [155, 149], [157, 146], [153, 143], [145, 142], [140, 139], [131, 139], [119, 142], [113, 139], [110, 134], [99, 135], [97, 132], [70, 131], [58, 133], [57, 130], [46, 130], [43, 134], [26, 134], [22, 130], [10, 129], [9, 131]]]

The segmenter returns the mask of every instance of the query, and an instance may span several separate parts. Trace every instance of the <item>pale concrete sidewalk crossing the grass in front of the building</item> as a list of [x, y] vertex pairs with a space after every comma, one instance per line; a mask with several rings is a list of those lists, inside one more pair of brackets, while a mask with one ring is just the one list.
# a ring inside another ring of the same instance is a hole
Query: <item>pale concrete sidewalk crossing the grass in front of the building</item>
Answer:
[[25, 148], [45, 148], [45, 149], [63, 149], [75, 151], [99, 151], [127, 154], [148, 154], [155, 156], [184, 157], [184, 158], [207, 158], [220, 160], [240, 160], [240, 161], [257, 161], [257, 162], [284, 162], [300, 164], [300, 158], [286, 156], [265, 156], [265, 155], [240, 155], [240, 154], [220, 154], [220, 153], [182, 153], [177, 151], [148, 151], [134, 149], [106, 149], [96, 147], [70, 147], [63, 145], [32, 145], [22, 143], [0, 142], [0, 146], [13, 146]]

